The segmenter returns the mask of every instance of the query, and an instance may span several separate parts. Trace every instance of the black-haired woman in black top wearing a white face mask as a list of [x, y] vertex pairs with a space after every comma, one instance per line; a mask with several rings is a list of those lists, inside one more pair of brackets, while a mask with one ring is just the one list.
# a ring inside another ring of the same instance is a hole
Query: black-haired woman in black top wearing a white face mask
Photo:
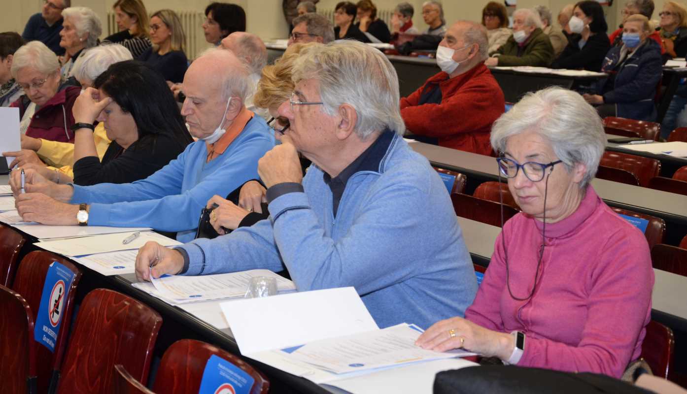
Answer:
[[601, 5], [594, 0], [575, 4], [568, 25], [573, 34], [551, 68], [601, 71], [601, 63], [611, 48], [606, 35], [608, 25]]

